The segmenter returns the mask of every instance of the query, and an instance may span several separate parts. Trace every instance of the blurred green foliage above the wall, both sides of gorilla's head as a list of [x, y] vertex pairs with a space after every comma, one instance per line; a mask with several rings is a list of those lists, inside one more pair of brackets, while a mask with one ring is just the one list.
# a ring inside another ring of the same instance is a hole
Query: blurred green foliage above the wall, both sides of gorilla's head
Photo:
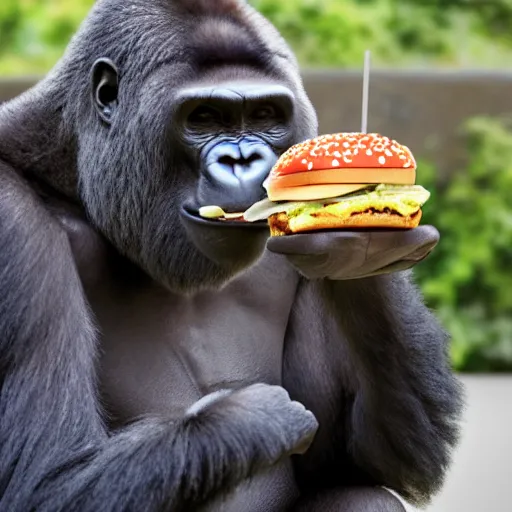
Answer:
[[[304, 67], [512, 66], [512, 0], [249, 0]], [[94, 0], [2, 0], [0, 75], [45, 73]]]

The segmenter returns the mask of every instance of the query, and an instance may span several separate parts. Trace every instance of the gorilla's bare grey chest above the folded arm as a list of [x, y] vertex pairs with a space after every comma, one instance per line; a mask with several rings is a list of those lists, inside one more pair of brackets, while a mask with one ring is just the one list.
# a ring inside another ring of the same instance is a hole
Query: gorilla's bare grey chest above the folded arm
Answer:
[[281, 383], [295, 278], [262, 269], [194, 297], [156, 286], [103, 290], [100, 385], [114, 423], [147, 413], [180, 416], [196, 400], [253, 382]]

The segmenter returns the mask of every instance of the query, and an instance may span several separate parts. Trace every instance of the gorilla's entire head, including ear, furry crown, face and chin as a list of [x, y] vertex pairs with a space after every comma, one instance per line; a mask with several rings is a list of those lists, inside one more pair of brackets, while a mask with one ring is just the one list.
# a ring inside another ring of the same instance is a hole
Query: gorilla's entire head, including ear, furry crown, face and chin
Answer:
[[[257, 260], [269, 230], [198, 210], [244, 211], [265, 196], [277, 158], [316, 135], [296, 62], [233, 0], [193, 12], [194, 2], [133, 1], [115, 21], [108, 4], [97, 4], [76, 41], [107, 39], [81, 59], [92, 69], [75, 113], [81, 198], [98, 229], [163, 285], [222, 285]], [[99, 19], [126, 40], [92, 33]]]

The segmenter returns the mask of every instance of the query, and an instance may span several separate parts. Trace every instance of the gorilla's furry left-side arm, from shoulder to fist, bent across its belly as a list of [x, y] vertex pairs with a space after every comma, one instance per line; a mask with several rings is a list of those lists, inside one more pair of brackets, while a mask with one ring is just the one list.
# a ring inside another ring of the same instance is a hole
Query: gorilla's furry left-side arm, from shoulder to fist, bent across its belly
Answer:
[[312, 414], [266, 385], [109, 435], [66, 232], [1, 162], [0, 247], [0, 509], [181, 510], [309, 445]]

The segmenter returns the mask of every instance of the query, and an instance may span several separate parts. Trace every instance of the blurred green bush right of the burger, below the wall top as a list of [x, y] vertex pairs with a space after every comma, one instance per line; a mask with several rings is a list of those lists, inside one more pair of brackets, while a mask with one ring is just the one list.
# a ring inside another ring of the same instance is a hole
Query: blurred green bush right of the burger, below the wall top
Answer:
[[512, 119], [475, 118], [464, 127], [469, 163], [440, 180], [419, 164], [432, 191], [424, 221], [441, 243], [418, 281], [453, 336], [455, 366], [512, 370]]

